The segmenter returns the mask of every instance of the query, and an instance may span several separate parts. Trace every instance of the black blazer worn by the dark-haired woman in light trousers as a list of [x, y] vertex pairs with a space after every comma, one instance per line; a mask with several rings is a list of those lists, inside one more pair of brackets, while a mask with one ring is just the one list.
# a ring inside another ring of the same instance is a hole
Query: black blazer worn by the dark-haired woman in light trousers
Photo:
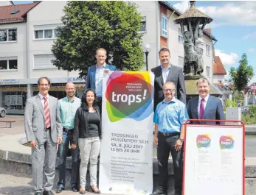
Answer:
[[[94, 107], [98, 116], [100, 116], [100, 108]], [[72, 143], [77, 144], [78, 138], [88, 138], [89, 132], [89, 121], [88, 121], [89, 110], [86, 108], [78, 107], [75, 113], [75, 127]], [[99, 125], [99, 137], [101, 138], [101, 117]]]

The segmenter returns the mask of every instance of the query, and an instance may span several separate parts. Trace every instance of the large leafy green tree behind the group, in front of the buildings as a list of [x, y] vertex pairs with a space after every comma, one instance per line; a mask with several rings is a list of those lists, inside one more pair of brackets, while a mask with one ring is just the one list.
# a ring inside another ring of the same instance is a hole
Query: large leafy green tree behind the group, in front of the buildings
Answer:
[[83, 77], [96, 63], [95, 51], [107, 50], [108, 58], [120, 70], [136, 71], [144, 65], [142, 16], [130, 1], [69, 1], [52, 46], [53, 65], [66, 71], [80, 71]]

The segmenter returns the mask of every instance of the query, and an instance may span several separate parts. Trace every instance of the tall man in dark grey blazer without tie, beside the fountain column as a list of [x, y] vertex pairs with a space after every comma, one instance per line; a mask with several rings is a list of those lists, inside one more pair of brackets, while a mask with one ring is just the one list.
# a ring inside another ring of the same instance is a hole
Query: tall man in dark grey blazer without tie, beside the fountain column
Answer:
[[186, 104], [186, 89], [182, 68], [170, 64], [170, 50], [167, 48], [160, 49], [159, 60], [161, 65], [151, 69], [155, 75], [153, 110], [156, 110], [156, 105], [165, 99], [162, 88], [167, 81], [173, 82], [175, 84], [176, 93], [174, 96], [176, 99], [179, 99], [181, 102]]

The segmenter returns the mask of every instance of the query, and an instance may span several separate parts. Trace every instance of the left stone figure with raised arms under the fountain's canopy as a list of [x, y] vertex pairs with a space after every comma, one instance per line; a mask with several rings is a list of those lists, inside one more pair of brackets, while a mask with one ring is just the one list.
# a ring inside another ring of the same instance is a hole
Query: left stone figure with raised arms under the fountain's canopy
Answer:
[[196, 62], [196, 51], [194, 44], [194, 35], [191, 22], [188, 21], [188, 30], [184, 32], [184, 26], [181, 25], [181, 33], [184, 39], [184, 74], [193, 75], [194, 64]]

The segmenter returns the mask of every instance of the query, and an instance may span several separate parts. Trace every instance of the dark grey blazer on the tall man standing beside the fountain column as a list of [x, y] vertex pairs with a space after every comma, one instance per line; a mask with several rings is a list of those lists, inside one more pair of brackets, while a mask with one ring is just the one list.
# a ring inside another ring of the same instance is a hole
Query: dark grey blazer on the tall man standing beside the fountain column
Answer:
[[[155, 82], [154, 82], [154, 98], [153, 98], [153, 110], [156, 109], [156, 105], [162, 100], [165, 99], [164, 93], [162, 91], [162, 87], [165, 84], [162, 78], [162, 68], [161, 65], [157, 66], [156, 68], [152, 68], [151, 71], [155, 74]], [[185, 89], [185, 82], [184, 76], [182, 72], [182, 68], [176, 65], [170, 65], [170, 72], [167, 77], [167, 81], [174, 82], [176, 86], [176, 99], [186, 104], [186, 89]]]

